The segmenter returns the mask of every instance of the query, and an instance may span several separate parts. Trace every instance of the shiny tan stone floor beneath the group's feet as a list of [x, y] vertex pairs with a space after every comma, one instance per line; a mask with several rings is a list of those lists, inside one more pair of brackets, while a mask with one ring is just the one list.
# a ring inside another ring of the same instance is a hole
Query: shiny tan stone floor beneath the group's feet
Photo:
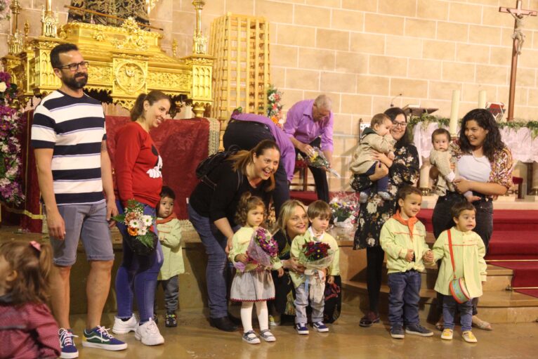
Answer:
[[[360, 313], [345, 306], [343, 315], [331, 332], [310, 331], [299, 336], [291, 324], [273, 330], [275, 343], [249, 345], [241, 340], [240, 332], [226, 333], [209, 327], [199, 311], [181, 311], [179, 327], [166, 328], [159, 324], [165, 338], [162, 346], [144, 346], [134, 334], [117, 336], [129, 344], [126, 351], [105, 352], [77, 346], [80, 358], [230, 358], [230, 359], [317, 359], [317, 358], [536, 358], [538, 353], [538, 323], [495, 325], [494, 331], [475, 329], [478, 344], [461, 339], [459, 330], [454, 340], [442, 341], [440, 332], [430, 338], [407, 335], [403, 340], [391, 339], [388, 327], [377, 324], [370, 328], [357, 325]], [[161, 317], [162, 318], [162, 317]], [[160, 318], [159, 318], [160, 319]], [[81, 334], [84, 319], [73, 316], [75, 334]], [[103, 318], [103, 324], [112, 323], [112, 314]], [[432, 325], [426, 325], [433, 329]], [[457, 328], [459, 329], [459, 328]], [[257, 330], [257, 329], [256, 329]]]

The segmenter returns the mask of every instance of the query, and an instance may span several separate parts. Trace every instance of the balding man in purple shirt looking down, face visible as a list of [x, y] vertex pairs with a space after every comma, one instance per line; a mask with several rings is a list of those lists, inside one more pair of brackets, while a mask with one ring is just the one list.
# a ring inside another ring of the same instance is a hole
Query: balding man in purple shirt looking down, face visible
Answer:
[[[299, 101], [289, 109], [284, 132], [301, 156], [306, 157], [306, 154], [313, 151], [313, 147], [318, 147], [327, 157], [329, 164], [332, 163], [334, 116], [331, 108], [331, 99], [320, 95], [315, 100]], [[315, 167], [308, 168], [314, 176], [317, 199], [329, 202], [326, 171]]]

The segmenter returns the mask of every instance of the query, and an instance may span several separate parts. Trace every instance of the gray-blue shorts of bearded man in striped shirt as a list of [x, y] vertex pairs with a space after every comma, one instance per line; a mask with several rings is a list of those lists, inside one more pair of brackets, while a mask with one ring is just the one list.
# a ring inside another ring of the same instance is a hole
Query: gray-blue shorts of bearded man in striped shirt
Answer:
[[72, 266], [77, 261], [79, 238], [88, 261], [112, 261], [112, 237], [107, 223], [105, 201], [94, 204], [63, 204], [58, 211], [65, 222], [65, 239], [51, 237], [53, 259], [57, 266]]

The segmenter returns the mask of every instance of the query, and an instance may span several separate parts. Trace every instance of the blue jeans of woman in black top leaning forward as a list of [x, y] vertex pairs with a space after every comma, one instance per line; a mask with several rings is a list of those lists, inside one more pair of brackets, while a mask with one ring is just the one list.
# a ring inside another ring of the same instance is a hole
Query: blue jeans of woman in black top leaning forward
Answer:
[[216, 228], [209, 217], [200, 216], [197, 211], [187, 207], [190, 222], [194, 226], [202, 244], [206, 247], [207, 267], [207, 301], [209, 317], [222, 318], [228, 316], [228, 299], [226, 298], [226, 261], [224, 252], [226, 237]]

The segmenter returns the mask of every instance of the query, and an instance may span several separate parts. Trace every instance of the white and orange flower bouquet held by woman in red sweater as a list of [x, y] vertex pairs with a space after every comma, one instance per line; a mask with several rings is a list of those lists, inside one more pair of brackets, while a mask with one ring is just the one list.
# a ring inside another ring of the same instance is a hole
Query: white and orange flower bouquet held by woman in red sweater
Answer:
[[144, 214], [144, 206], [136, 200], [127, 201], [124, 214], [112, 217], [127, 228], [127, 244], [133, 252], [147, 256], [155, 251], [159, 238], [153, 231], [153, 216]]

